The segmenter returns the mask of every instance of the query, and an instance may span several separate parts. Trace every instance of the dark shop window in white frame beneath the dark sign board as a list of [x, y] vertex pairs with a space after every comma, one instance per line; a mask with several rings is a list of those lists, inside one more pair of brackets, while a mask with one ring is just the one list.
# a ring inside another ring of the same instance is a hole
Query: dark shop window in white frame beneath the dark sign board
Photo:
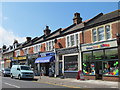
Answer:
[[78, 71], [78, 56], [65, 56], [64, 57], [64, 70], [65, 71]]

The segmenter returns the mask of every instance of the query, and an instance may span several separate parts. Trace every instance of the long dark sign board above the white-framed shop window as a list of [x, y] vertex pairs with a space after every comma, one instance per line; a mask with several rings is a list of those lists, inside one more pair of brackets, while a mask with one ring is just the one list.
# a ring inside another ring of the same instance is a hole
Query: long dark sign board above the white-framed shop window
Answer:
[[74, 48], [58, 49], [56, 51], [56, 54], [60, 55], [60, 54], [71, 54], [71, 53], [78, 53], [78, 52], [79, 52], [78, 48], [74, 47]]

